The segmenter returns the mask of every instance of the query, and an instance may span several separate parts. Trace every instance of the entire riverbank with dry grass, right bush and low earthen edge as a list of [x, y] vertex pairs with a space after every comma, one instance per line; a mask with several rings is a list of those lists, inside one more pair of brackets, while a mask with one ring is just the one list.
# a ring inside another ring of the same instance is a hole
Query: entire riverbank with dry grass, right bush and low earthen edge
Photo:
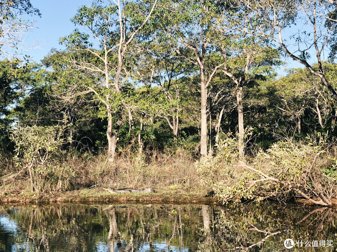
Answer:
[[[259, 150], [255, 157], [242, 161], [235, 139], [226, 141], [218, 146], [215, 157], [203, 163], [194, 162], [186, 152], [183, 156], [149, 155], [152, 159], [148, 163], [146, 156], [137, 163], [126, 154], [119, 156], [114, 166], [108, 165], [103, 154], [86, 160], [66, 156], [59, 162], [62, 165], [51, 166], [52, 171], [34, 171], [33, 180], [25, 169], [12, 165], [1, 177], [0, 202], [239, 205], [243, 199], [269, 199], [337, 205], [337, 160], [329, 146], [279, 141], [268, 151]], [[157, 193], [111, 194], [95, 186], [153, 188]], [[29, 188], [36, 193], [29, 192]], [[206, 197], [212, 190], [214, 197]]]

